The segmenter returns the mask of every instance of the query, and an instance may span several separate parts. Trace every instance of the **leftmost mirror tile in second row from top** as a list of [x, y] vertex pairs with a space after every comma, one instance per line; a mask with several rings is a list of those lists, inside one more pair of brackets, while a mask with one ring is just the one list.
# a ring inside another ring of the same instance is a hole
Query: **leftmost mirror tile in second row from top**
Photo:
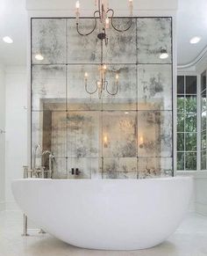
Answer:
[[66, 67], [32, 66], [32, 110], [66, 110]]

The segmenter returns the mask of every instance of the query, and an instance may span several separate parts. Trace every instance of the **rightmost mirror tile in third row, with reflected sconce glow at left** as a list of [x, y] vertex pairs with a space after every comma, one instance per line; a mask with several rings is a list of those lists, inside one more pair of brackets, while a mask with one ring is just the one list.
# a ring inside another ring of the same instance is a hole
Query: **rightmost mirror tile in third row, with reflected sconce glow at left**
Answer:
[[138, 157], [172, 157], [172, 112], [138, 112]]

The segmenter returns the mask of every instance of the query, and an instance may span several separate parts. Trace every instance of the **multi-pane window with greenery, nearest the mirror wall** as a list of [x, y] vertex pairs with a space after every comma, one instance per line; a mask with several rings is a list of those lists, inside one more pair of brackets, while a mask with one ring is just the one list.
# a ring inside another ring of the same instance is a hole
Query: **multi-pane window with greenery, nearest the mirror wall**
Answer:
[[196, 171], [196, 76], [177, 77], [177, 170]]

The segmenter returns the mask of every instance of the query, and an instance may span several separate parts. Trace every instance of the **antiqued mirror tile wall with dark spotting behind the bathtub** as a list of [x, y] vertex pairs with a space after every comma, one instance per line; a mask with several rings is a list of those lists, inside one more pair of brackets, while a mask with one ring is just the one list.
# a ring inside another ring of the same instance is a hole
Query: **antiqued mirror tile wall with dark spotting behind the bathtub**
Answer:
[[[128, 19], [115, 22], [125, 27]], [[92, 23], [81, 18], [82, 31]], [[109, 30], [103, 61], [111, 91], [118, 74], [118, 94], [101, 99], [84, 84], [87, 72], [94, 90], [99, 76], [97, 33], [80, 36], [75, 18], [32, 18], [33, 165], [52, 161], [56, 179], [172, 175], [171, 18], [133, 18], [125, 33]]]

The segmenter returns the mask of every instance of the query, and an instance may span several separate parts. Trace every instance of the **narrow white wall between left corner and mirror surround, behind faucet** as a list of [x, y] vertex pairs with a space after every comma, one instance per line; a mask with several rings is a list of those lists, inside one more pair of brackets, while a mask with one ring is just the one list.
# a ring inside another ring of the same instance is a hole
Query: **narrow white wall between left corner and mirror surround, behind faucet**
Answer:
[[27, 163], [26, 67], [8, 67], [5, 70], [5, 86], [5, 201], [6, 209], [12, 209], [16, 208], [16, 204], [11, 194], [11, 181], [22, 178], [22, 166]]

